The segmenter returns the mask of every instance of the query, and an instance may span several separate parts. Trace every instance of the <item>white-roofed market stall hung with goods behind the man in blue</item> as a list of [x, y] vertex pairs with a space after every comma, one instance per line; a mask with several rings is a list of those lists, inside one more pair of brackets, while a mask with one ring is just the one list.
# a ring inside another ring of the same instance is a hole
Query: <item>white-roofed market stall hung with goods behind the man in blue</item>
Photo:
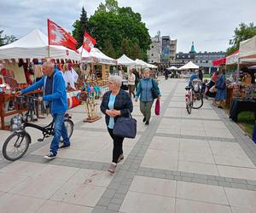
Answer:
[[[32, 30], [26, 36], [21, 37], [14, 43], [0, 47], [0, 117], [2, 129], [7, 127], [4, 118], [26, 110], [15, 104], [15, 91], [23, 89], [33, 81], [43, 76], [42, 64], [50, 58], [55, 67], [58, 67], [66, 79], [67, 89], [75, 87], [75, 62], [80, 60], [80, 55], [72, 49], [62, 46], [48, 45], [48, 37], [38, 29]], [[37, 90], [33, 95], [42, 95]], [[12, 107], [9, 105], [12, 103]], [[38, 116], [38, 107], [35, 114]]]

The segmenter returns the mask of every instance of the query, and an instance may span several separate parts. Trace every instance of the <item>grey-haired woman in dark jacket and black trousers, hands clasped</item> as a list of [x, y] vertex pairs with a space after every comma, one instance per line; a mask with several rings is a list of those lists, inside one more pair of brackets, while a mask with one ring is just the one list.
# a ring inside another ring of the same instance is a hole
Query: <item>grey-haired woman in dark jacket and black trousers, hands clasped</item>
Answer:
[[114, 173], [117, 163], [124, 158], [124, 137], [113, 135], [114, 123], [119, 116], [129, 117], [133, 109], [131, 97], [120, 89], [121, 84], [122, 79], [119, 76], [110, 77], [108, 80], [109, 91], [103, 95], [101, 104], [101, 111], [105, 114], [108, 133], [113, 139], [113, 158], [108, 170], [111, 173]]

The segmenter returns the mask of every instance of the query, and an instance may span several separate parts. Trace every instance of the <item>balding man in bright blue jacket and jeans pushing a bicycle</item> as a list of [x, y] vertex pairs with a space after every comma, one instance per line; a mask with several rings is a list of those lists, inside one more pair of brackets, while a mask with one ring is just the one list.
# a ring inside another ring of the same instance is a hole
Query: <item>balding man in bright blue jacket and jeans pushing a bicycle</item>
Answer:
[[17, 92], [16, 95], [24, 95], [33, 90], [44, 88], [44, 95], [38, 97], [38, 101], [44, 101], [44, 107], [49, 108], [55, 121], [55, 135], [51, 141], [49, 154], [44, 158], [56, 158], [59, 149], [59, 141], [63, 138], [63, 147], [69, 147], [70, 141], [67, 136], [67, 129], [63, 123], [65, 112], [67, 111], [67, 93], [64, 78], [61, 72], [54, 68], [54, 65], [47, 61], [43, 65], [44, 77], [37, 83], [33, 83], [30, 87]]

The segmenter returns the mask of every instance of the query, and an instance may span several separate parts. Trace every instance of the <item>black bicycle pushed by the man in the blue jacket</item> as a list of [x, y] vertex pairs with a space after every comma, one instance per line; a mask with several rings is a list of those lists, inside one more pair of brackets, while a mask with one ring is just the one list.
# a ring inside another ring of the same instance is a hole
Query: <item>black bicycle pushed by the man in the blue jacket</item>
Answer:
[[[55, 122], [53, 119], [48, 125], [43, 127], [37, 124], [29, 123], [28, 122], [29, 113], [32, 111], [34, 101], [38, 101], [37, 98], [32, 96], [19, 96], [16, 98], [20, 99], [20, 102], [24, 101], [24, 99], [27, 98], [28, 109], [27, 109], [25, 118], [23, 117], [22, 119], [20, 115], [12, 118], [11, 130], [13, 130], [14, 133], [12, 135], [9, 135], [9, 137], [3, 143], [3, 150], [2, 150], [3, 157], [10, 161], [15, 161], [17, 159], [20, 159], [26, 153], [29, 145], [32, 142], [32, 138], [27, 133], [26, 127], [32, 127], [34, 129], [42, 131], [43, 138], [39, 138], [38, 141], [44, 141], [44, 138], [48, 138], [54, 135], [54, 125], [55, 125]], [[72, 117], [68, 113], [66, 113], [63, 120], [67, 128], [67, 135], [69, 138], [73, 135], [74, 124], [71, 118]], [[63, 142], [62, 138], [60, 142]]]

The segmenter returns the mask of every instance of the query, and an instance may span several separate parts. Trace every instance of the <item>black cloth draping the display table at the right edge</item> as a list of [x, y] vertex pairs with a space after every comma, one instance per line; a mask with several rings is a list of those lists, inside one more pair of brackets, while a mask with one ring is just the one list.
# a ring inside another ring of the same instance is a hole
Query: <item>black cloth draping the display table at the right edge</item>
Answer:
[[244, 101], [239, 99], [233, 99], [230, 107], [230, 118], [237, 122], [238, 114], [240, 112], [254, 112], [256, 119], [256, 101]]

